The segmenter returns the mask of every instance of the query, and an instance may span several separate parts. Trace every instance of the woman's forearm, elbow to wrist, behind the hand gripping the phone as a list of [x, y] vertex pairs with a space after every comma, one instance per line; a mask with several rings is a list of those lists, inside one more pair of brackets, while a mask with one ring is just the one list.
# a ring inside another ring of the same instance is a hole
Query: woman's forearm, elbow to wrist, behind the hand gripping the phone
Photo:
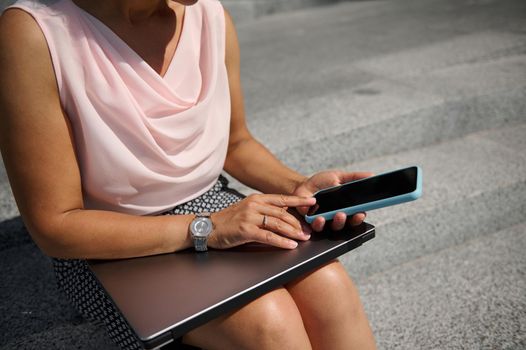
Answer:
[[253, 137], [247, 137], [229, 149], [225, 170], [263, 193], [292, 194], [306, 179], [284, 165]]

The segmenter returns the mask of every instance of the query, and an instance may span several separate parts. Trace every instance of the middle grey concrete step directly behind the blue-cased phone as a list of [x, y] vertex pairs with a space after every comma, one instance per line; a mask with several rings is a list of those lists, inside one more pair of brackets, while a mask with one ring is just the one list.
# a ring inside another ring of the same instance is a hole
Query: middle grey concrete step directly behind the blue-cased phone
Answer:
[[342, 257], [370, 276], [526, 219], [526, 124], [483, 131], [422, 149], [352, 164], [376, 173], [420, 165], [423, 197], [368, 213], [377, 237]]

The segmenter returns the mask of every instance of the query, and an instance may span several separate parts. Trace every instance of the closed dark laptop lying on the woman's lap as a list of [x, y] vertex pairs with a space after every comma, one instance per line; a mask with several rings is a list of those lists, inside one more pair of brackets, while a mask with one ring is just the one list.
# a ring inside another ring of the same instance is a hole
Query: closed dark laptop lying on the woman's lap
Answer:
[[362, 223], [313, 234], [294, 250], [246, 244], [228, 250], [177, 253], [89, 266], [146, 349], [170, 343], [226, 312], [288, 283], [375, 236]]

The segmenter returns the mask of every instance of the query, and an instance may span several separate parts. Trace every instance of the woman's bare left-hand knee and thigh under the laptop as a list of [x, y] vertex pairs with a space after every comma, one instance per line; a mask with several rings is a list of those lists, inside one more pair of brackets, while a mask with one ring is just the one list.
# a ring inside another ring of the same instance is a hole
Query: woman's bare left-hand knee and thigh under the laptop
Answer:
[[183, 342], [204, 349], [310, 349], [301, 314], [285, 288], [198, 327]]

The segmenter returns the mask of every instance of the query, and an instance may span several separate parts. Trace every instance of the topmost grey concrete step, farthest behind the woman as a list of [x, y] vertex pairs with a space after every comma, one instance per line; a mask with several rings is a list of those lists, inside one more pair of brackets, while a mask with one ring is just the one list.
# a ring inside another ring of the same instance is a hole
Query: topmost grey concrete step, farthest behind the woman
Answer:
[[525, 13], [514, 0], [364, 1], [240, 25], [248, 116], [375, 78], [524, 54]]

